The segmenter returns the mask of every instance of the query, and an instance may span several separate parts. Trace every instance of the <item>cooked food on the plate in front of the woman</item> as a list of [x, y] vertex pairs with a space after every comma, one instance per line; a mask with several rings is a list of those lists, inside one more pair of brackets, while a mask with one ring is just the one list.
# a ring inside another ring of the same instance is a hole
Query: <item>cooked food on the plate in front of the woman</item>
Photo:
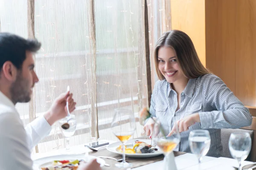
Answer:
[[[154, 151], [157, 150], [150, 144], [138, 140], [134, 141], [132, 145], [132, 148], [126, 148], [125, 146], [125, 153], [154, 153]], [[116, 151], [122, 153], [122, 145], [117, 147]]]

